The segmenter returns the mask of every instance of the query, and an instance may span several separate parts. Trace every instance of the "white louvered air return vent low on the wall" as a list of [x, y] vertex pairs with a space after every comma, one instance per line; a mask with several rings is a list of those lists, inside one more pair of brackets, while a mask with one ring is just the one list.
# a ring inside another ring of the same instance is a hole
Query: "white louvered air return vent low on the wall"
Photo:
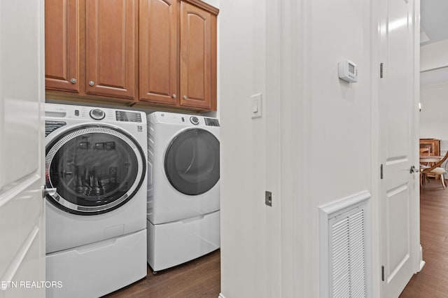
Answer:
[[319, 207], [320, 297], [370, 297], [369, 192]]

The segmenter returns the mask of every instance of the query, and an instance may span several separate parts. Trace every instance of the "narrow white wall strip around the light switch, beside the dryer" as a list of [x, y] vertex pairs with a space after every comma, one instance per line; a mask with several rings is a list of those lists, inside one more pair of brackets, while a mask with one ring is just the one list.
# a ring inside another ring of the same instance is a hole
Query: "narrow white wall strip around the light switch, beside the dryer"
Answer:
[[221, 292], [266, 297], [264, 119], [251, 94], [265, 93], [265, 0], [221, 1]]

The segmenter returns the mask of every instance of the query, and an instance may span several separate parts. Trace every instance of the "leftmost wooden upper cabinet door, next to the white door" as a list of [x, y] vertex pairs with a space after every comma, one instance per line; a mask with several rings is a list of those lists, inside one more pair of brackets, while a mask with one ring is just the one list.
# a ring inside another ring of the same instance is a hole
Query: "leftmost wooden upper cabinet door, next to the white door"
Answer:
[[78, 0], [45, 0], [45, 88], [79, 92]]

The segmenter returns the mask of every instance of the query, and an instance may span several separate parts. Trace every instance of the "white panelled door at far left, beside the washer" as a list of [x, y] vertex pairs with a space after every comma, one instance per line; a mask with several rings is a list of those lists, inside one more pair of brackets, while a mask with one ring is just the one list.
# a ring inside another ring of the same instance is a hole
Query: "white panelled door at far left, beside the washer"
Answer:
[[0, 1], [0, 298], [45, 297], [43, 0]]

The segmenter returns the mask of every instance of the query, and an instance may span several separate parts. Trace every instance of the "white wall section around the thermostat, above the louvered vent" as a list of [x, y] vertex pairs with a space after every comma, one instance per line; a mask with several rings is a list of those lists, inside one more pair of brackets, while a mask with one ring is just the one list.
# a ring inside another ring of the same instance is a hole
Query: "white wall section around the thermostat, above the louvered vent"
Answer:
[[[301, 116], [304, 140], [302, 203], [304, 267], [309, 275], [295, 297], [318, 297], [318, 206], [357, 192], [372, 192], [372, 51], [371, 3], [368, 0], [309, 0], [304, 24], [308, 54], [304, 62], [306, 93]], [[347, 58], [358, 65], [358, 83], [337, 78], [337, 62]], [[300, 66], [299, 66], [300, 67]], [[291, 132], [293, 135], [293, 132]], [[376, 198], [372, 197], [372, 200]], [[300, 204], [299, 203], [299, 204]], [[300, 230], [299, 230], [300, 231]], [[324, 295], [325, 296], [325, 295]]]

